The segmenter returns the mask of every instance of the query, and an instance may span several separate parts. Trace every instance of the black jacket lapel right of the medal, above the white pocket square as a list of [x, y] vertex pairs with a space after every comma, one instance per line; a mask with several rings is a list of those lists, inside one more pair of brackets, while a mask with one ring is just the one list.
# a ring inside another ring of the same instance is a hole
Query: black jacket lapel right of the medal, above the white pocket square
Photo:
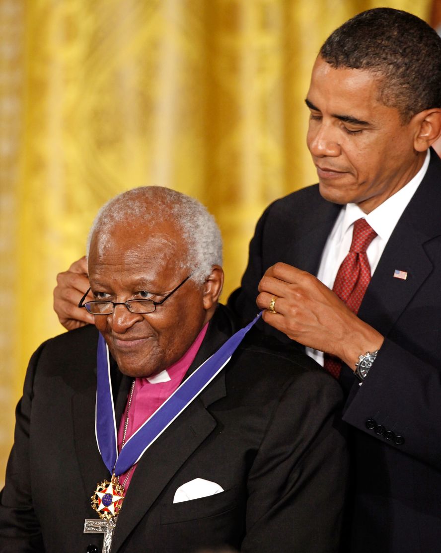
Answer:
[[[230, 328], [232, 325], [228, 324], [228, 317], [224, 316], [221, 307], [213, 317], [186, 377], [227, 340]], [[112, 545], [115, 553], [183, 463], [216, 428], [216, 420], [206, 406], [224, 395], [225, 375], [222, 371], [141, 457], [118, 517]]]

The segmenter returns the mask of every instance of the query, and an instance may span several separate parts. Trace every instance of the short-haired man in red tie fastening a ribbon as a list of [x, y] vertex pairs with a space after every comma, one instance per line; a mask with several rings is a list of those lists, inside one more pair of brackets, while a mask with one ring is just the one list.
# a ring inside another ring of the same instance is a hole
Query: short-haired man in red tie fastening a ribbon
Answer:
[[[319, 184], [267, 208], [230, 306], [249, 316], [259, 294], [267, 330], [325, 367], [343, 361], [350, 551], [438, 551], [441, 162], [429, 147], [441, 133], [441, 38], [405, 12], [359, 14], [322, 46], [306, 103]], [[351, 246], [358, 220], [374, 231], [367, 254]], [[350, 307], [355, 254], [367, 278]]]

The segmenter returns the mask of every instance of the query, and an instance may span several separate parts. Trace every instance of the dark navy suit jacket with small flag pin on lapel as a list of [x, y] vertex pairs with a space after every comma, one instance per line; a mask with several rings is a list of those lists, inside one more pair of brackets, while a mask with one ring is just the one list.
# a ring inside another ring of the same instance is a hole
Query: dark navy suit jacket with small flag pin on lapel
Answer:
[[[276, 262], [317, 274], [340, 209], [323, 200], [318, 185], [269, 206], [230, 306], [246, 316], [253, 312], [259, 280]], [[407, 280], [393, 278], [395, 269], [407, 272]], [[441, 161], [433, 151], [372, 276], [359, 317], [386, 340], [361, 387], [346, 366], [340, 377], [349, 394], [343, 419], [354, 429], [350, 551], [439, 551]], [[288, 340], [268, 326], [265, 331]]]

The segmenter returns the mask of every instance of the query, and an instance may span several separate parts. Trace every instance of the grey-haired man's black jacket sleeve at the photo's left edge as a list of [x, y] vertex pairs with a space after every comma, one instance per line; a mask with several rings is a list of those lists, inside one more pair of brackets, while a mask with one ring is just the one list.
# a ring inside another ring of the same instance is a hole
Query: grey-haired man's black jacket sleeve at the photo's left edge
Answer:
[[44, 345], [31, 357], [23, 397], [15, 411], [14, 446], [9, 456], [6, 484], [0, 493], [0, 553], [44, 552], [39, 521], [34, 513], [29, 466], [29, 429], [35, 367]]

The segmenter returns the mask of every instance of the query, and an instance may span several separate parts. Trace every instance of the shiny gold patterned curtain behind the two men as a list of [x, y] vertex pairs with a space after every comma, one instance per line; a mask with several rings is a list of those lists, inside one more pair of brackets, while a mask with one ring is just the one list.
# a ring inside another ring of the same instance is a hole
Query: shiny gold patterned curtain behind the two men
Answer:
[[63, 331], [55, 276], [98, 207], [141, 185], [200, 199], [226, 299], [264, 207], [316, 180], [304, 99], [322, 41], [364, 9], [429, 4], [0, 0], [0, 479], [30, 354]]

